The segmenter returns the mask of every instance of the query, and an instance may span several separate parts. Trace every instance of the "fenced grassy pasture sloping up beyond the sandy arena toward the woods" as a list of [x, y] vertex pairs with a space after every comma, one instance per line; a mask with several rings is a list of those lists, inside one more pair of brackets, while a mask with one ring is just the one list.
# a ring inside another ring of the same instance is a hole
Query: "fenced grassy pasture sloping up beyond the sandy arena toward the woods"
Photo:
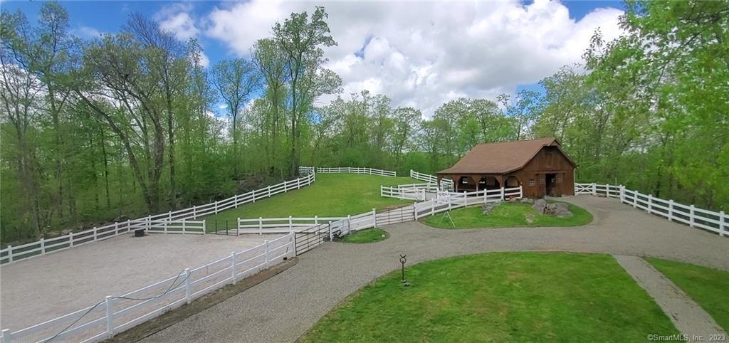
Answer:
[[410, 200], [380, 197], [380, 185], [394, 186], [416, 182], [418, 181], [402, 177], [320, 173], [316, 174], [316, 182], [311, 186], [247, 203], [205, 219], [208, 229], [214, 229], [215, 220], [220, 226], [225, 225], [227, 219], [230, 227], [233, 227], [236, 225], [236, 218], [355, 215], [373, 208], [380, 210], [393, 205], [413, 203]]

